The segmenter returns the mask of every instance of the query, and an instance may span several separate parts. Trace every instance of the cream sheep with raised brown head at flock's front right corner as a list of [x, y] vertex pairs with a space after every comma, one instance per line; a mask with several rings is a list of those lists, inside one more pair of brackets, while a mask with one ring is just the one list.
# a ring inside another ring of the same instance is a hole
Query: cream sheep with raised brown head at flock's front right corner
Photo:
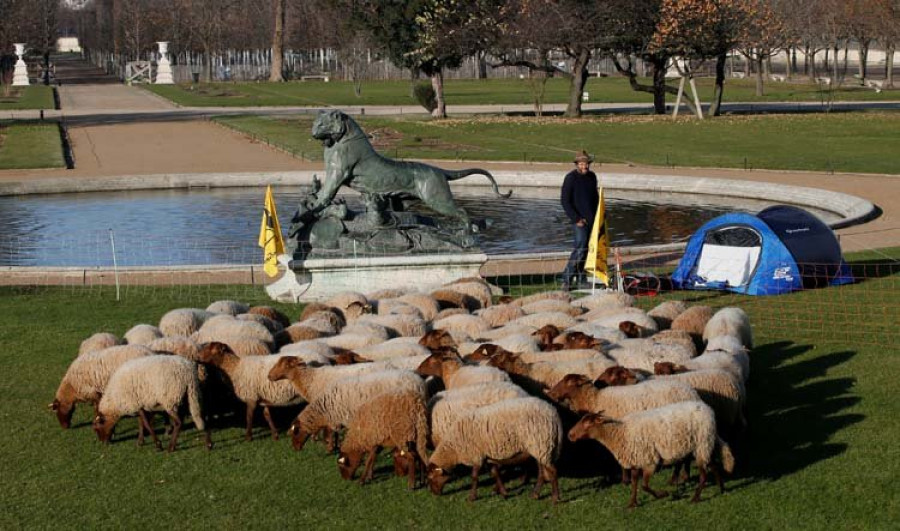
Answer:
[[700, 482], [691, 502], [700, 501], [706, 486], [707, 469], [711, 468], [722, 492], [725, 491], [718, 462], [724, 469], [734, 469], [734, 456], [728, 444], [716, 434], [715, 415], [709, 406], [699, 401], [679, 402], [649, 411], [613, 419], [601, 414], [585, 415], [569, 430], [569, 440], [594, 439], [606, 447], [623, 469], [631, 470], [631, 498], [628, 508], [637, 507], [638, 479], [643, 477], [643, 490], [654, 498], [669, 495], [665, 491], [650, 488], [650, 477], [660, 464], [672, 465], [684, 462], [691, 456], [700, 469]]

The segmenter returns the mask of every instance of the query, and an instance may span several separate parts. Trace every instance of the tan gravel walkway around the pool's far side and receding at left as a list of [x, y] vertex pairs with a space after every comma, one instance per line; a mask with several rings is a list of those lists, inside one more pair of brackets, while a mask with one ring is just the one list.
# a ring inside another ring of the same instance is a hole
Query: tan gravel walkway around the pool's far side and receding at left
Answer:
[[[70, 127], [76, 169], [0, 171], [0, 180], [17, 181], [49, 177], [97, 177], [165, 173], [272, 172], [321, 170], [321, 163], [307, 163], [216, 124], [179, 115], [177, 109], [156, 96], [123, 85], [63, 85], [61, 97], [67, 113], [89, 116], [109, 113], [109, 120], [73, 124]], [[123, 107], [129, 111], [120, 111]], [[234, 111], [234, 109], [231, 109]], [[142, 113], [136, 122], [132, 113]], [[246, 112], [246, 109], [240, 110]], [[106, 116], [106, 114], [104, 114]], [[191, 121], [165, 121], [167, 117]], [[149, 119], [149, 121], [147, 120]], [[158, 121], [156, 121], [158, 120]], [[110, 123], [112, 122], [112, 123]], [[118, 122], [118, 123], [117, 123]], [[298, 134], [306, 132], [298, 131]], [[441, 161], [446, 167], [461, 164]], [[472, 166], [472, 162], [465, 166]], [[570, 165], [483, 163], [496, 169], [543, 170], [562, 176]], [[806, 172], [740, 171], [720, 169], [656, 168], [605, 165], [601, 172], [648, 173], [718, 177], [775, 182], [823, 188], [863, 197], [878, 205], [883, 214], [865, 225], [838, 231], [846, 250], [900, 246], [900, 176], [831, 175]], [[789, 198], [788, 198], [789, 200]]]

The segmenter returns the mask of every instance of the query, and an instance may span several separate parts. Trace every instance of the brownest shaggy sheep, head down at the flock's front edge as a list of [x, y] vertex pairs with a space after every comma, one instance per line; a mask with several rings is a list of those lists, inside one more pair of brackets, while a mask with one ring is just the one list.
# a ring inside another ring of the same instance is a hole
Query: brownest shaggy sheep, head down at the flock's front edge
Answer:
[[[353, 479], [356, 469], [368, 454], [360, 484], [372, 479], [375, 457], [382, 448], [397, 449], [396, 458], [405, 466], [408, 488], [416, 485], [416, 469], [425, 467], [428, 444], [428, 419], [425, 399], [416, 391], [388, 392], [363, 404], [350, 423], [341, 444], [338, 470], [341, 477]], [[408, 455], [407, 455], [408, 454]], [[396, 463], [395, 463], [396, 465]]]

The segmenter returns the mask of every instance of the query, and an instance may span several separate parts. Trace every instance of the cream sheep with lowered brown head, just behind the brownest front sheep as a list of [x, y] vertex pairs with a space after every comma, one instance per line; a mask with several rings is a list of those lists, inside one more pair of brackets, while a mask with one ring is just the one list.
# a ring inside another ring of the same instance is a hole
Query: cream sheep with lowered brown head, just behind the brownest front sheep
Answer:
[[424, 400], [425, 382], [411, 371], [382, 370], [336, 380], [291, 424], [291, 443], [295, 450], [302, 450], [310, 435], [321, 430], [337, 432], [348, 426], [359, 409], [376, 397], [406, 392], [417, 393]]

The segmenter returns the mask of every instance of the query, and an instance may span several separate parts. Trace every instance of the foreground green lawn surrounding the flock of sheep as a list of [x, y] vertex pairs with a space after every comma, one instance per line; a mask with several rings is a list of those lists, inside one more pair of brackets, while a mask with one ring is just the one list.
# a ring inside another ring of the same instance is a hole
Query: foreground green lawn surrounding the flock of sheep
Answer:
[[[465, 479], [442, 497], [407, 492], [405, 480], [386, 476], [386, 460], [375, 482], [360, 487], [340, 479], [321, 445], [295, 453], [262, 429], [247, 443], [236, 419], [213, 424], [210, 452], [192, 429], [171, 455], [136, 448], [131, 419], [120, 423], [113, 444], [101, 446], [89, 427], [90, 408], [79, 406], [68, 431], [46, 409], [82, 339], [97, 331], [121, 335], [136, 323], [156, 323], [169, 309], [205, 307], [218, 298], [263, 303], [261, 292], [169, 286], [126, 290], [116, 302], [112, 288], [0, 288], [0, 528], [136, 528], [151, 521], [229, 529], [895, 528], [900, 275], [896, 266], [869, 269], [876, 271], [881, 278], [780, 297], [697, 294], [711, 304], [742, 306], [753, 320], [750, 431], [726, 494], [710, 488], [698, 505], [683, 495], [661, 501], [642, 495], [634, 511], [624, 509], [625, 487], [591, 471], [590, 452], [562, 466], [564, 503], [553, 507], [546, 494], [534, 501], [519, 488], [502, 501], [487, 478], [471, 504]], [[842, 339], [844, 331], [858, 335]], [[279, 415], [282, 426], [287, 413]], [[664, 476], [654, 479], [657, 488]]]

